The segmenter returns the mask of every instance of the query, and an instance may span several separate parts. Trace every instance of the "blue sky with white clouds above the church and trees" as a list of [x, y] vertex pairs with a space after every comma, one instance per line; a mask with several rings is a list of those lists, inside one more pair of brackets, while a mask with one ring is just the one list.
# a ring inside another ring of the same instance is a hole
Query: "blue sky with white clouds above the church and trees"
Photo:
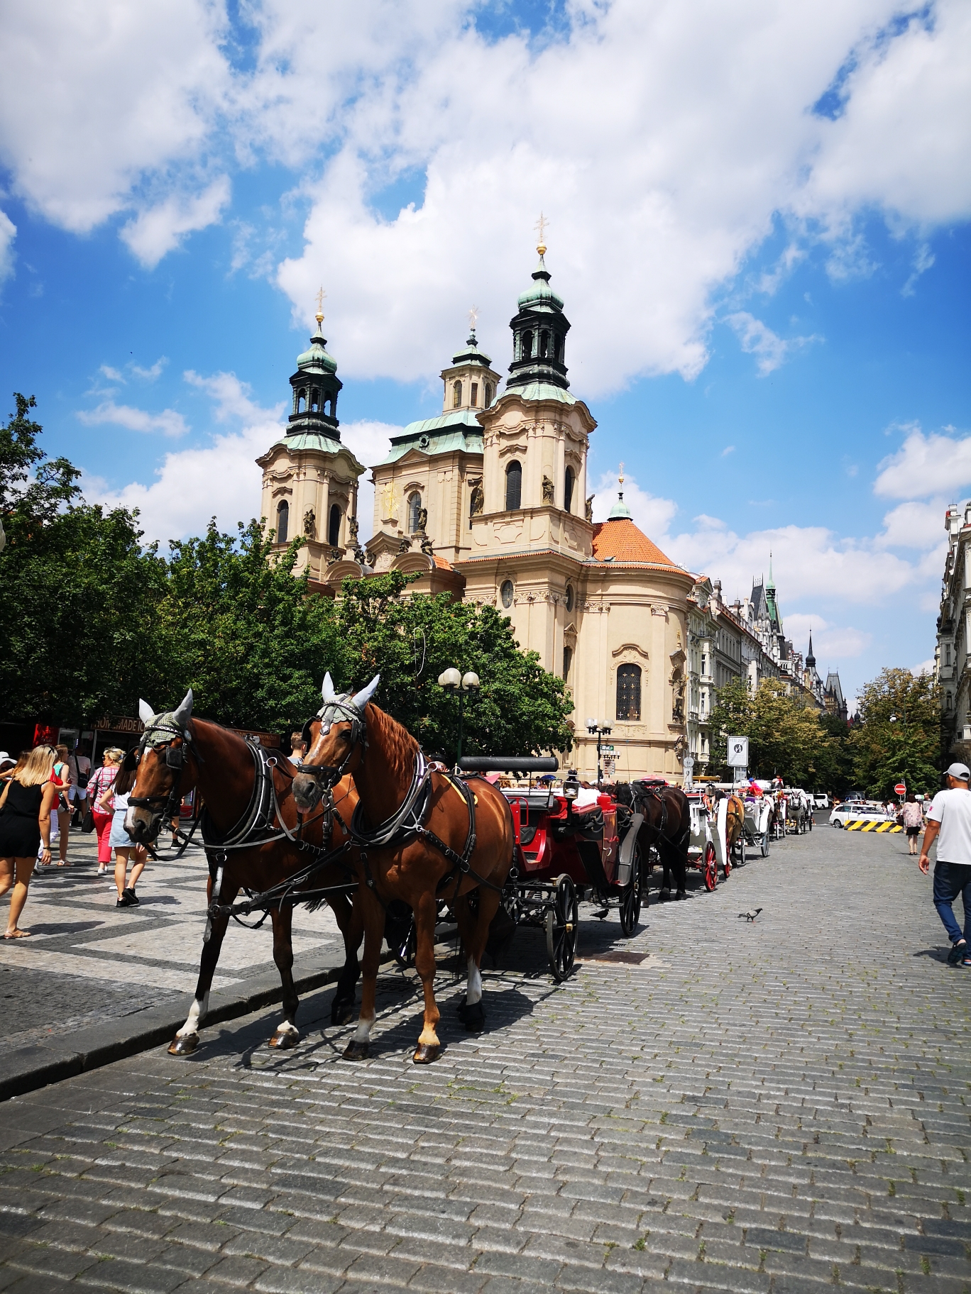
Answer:
[[[146, 534], [259, 506], [322, 283], [363, 461], [500, 370], [549, 217], [572, 389], [729, 598], [847, 690], [933, 651], [971, 496], [971, 17], [843, 0], [211, 0], [0, 18], [0, 371]], [[364, 527], [366, 532], [366, 523]]]

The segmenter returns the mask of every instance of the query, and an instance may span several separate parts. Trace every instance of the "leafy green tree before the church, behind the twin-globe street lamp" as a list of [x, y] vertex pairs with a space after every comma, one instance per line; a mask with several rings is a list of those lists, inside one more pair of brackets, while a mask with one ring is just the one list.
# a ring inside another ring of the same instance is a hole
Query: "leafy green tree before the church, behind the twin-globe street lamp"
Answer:
[[397, 571], [346, 580], [334, 607], [339, 653], [331, 663], [338, 688], [363, 687], [381, 674], [375, 701], [418, 738], [426, 751], [454, 757], [458, 697], [438, 685], [456, 666], [479, 675], [465, 701], [463, 751], [528, 754], [570, 751], [572, 700], [562, 679], [522, 652], [495, 607], [408, 595]]

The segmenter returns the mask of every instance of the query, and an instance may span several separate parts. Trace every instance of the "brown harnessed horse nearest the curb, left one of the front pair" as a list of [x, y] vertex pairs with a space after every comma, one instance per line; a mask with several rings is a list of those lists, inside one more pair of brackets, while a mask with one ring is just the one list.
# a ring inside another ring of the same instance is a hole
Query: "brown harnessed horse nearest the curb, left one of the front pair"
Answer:
[[[205, 801], [202, 836], [210, 864], [207, 895], [210, 911], [202, 942], [199, 978], [188, 1020], [168, 1048], [186, 1056], [199, 1043], [199, 1025], [208, 1007], [212, 976], [229, 925], [228, 908], [241, 889], [265, 893], [277, 886], [278, 902], [269, 907], [273, 923], [273, 960], [284, 986], [284, 1018], [271, 1047], [295, 1047], [298, 998], [294, 986], [291, 939], [293, 905], [302, 890], [343, 886], [326, 895], [344, 937], [344, 967], [331, 1011], [334, 1024], [353, 1009], [357, 983], [357, 947], [363, 928], [353, 903], [353, 871], [350, 862], [347, 823], [357, 796], [350, 782], [335, 788], [328, 813], [302, 820], [293, 796], [290, 761], [280, 751], [267, 752], [219, 723], [192, 718], [192, 691], [176, 710], [154, 714], [140, 703], [145, 732], [141, 739], [139, 776], [128, 800], [124, 827], [136, 844], [153, 841], [183, 796], [198, 788]], [[329, 837], [329, 839], [328, 839]], [[348, 845], [343, 855], [321, 863], [328, 853]], [[240, 848], [237, 848], [240, 846]], [[342, 867], [342, 863], [344, 864]], [[312, 873], [302, 879], [312, 868]], [[294, 879], [287, 894], [286, 883]], [[216, 911], [216, 907], [219, 911]]]

